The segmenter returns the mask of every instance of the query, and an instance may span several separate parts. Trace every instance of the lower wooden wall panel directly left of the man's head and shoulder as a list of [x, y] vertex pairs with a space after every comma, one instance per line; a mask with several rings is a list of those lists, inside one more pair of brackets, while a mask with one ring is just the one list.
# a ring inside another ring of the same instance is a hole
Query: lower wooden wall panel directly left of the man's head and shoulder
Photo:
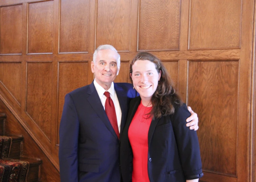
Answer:
[[[89, 65], [90, 66], [90, 65]], [[88, 85], [88, 61], [59, 62], [58, 64], [58, 116], [57, 144], [59, 144], [59, 126], [65, 95], [72, 90]]]

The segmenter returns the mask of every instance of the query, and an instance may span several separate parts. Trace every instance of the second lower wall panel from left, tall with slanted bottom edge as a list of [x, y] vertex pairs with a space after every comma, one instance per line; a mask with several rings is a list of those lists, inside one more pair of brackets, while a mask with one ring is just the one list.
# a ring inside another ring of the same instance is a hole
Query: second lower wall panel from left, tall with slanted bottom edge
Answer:
[[50, 141], [52, 63], [28, 62], [26, 80], [25, 111]]

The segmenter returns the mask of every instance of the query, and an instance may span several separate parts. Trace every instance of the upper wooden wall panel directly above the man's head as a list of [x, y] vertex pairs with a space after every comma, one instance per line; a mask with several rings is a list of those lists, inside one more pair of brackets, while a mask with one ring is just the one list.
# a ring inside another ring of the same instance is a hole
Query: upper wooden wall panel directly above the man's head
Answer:
[[110, 44], [119, 52], [129, 52], [130, 26], [131, 1], [98, 0], [96, 48]]

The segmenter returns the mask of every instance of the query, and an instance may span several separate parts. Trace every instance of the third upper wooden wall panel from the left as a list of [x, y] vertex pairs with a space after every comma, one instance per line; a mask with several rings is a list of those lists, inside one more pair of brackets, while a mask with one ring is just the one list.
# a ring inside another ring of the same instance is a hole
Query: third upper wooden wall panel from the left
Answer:
[[89, 0], [61, 0], [59, 52], [88, 52], [89, 23]]

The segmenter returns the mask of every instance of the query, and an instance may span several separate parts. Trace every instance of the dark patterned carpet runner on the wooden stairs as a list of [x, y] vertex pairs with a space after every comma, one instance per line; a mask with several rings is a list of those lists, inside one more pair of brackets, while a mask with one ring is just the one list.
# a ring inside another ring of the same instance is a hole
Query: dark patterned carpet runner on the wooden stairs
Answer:
[[25, 182], [29, 163], [8, 158], [12, 139], [0, 136], [0, 182]]

